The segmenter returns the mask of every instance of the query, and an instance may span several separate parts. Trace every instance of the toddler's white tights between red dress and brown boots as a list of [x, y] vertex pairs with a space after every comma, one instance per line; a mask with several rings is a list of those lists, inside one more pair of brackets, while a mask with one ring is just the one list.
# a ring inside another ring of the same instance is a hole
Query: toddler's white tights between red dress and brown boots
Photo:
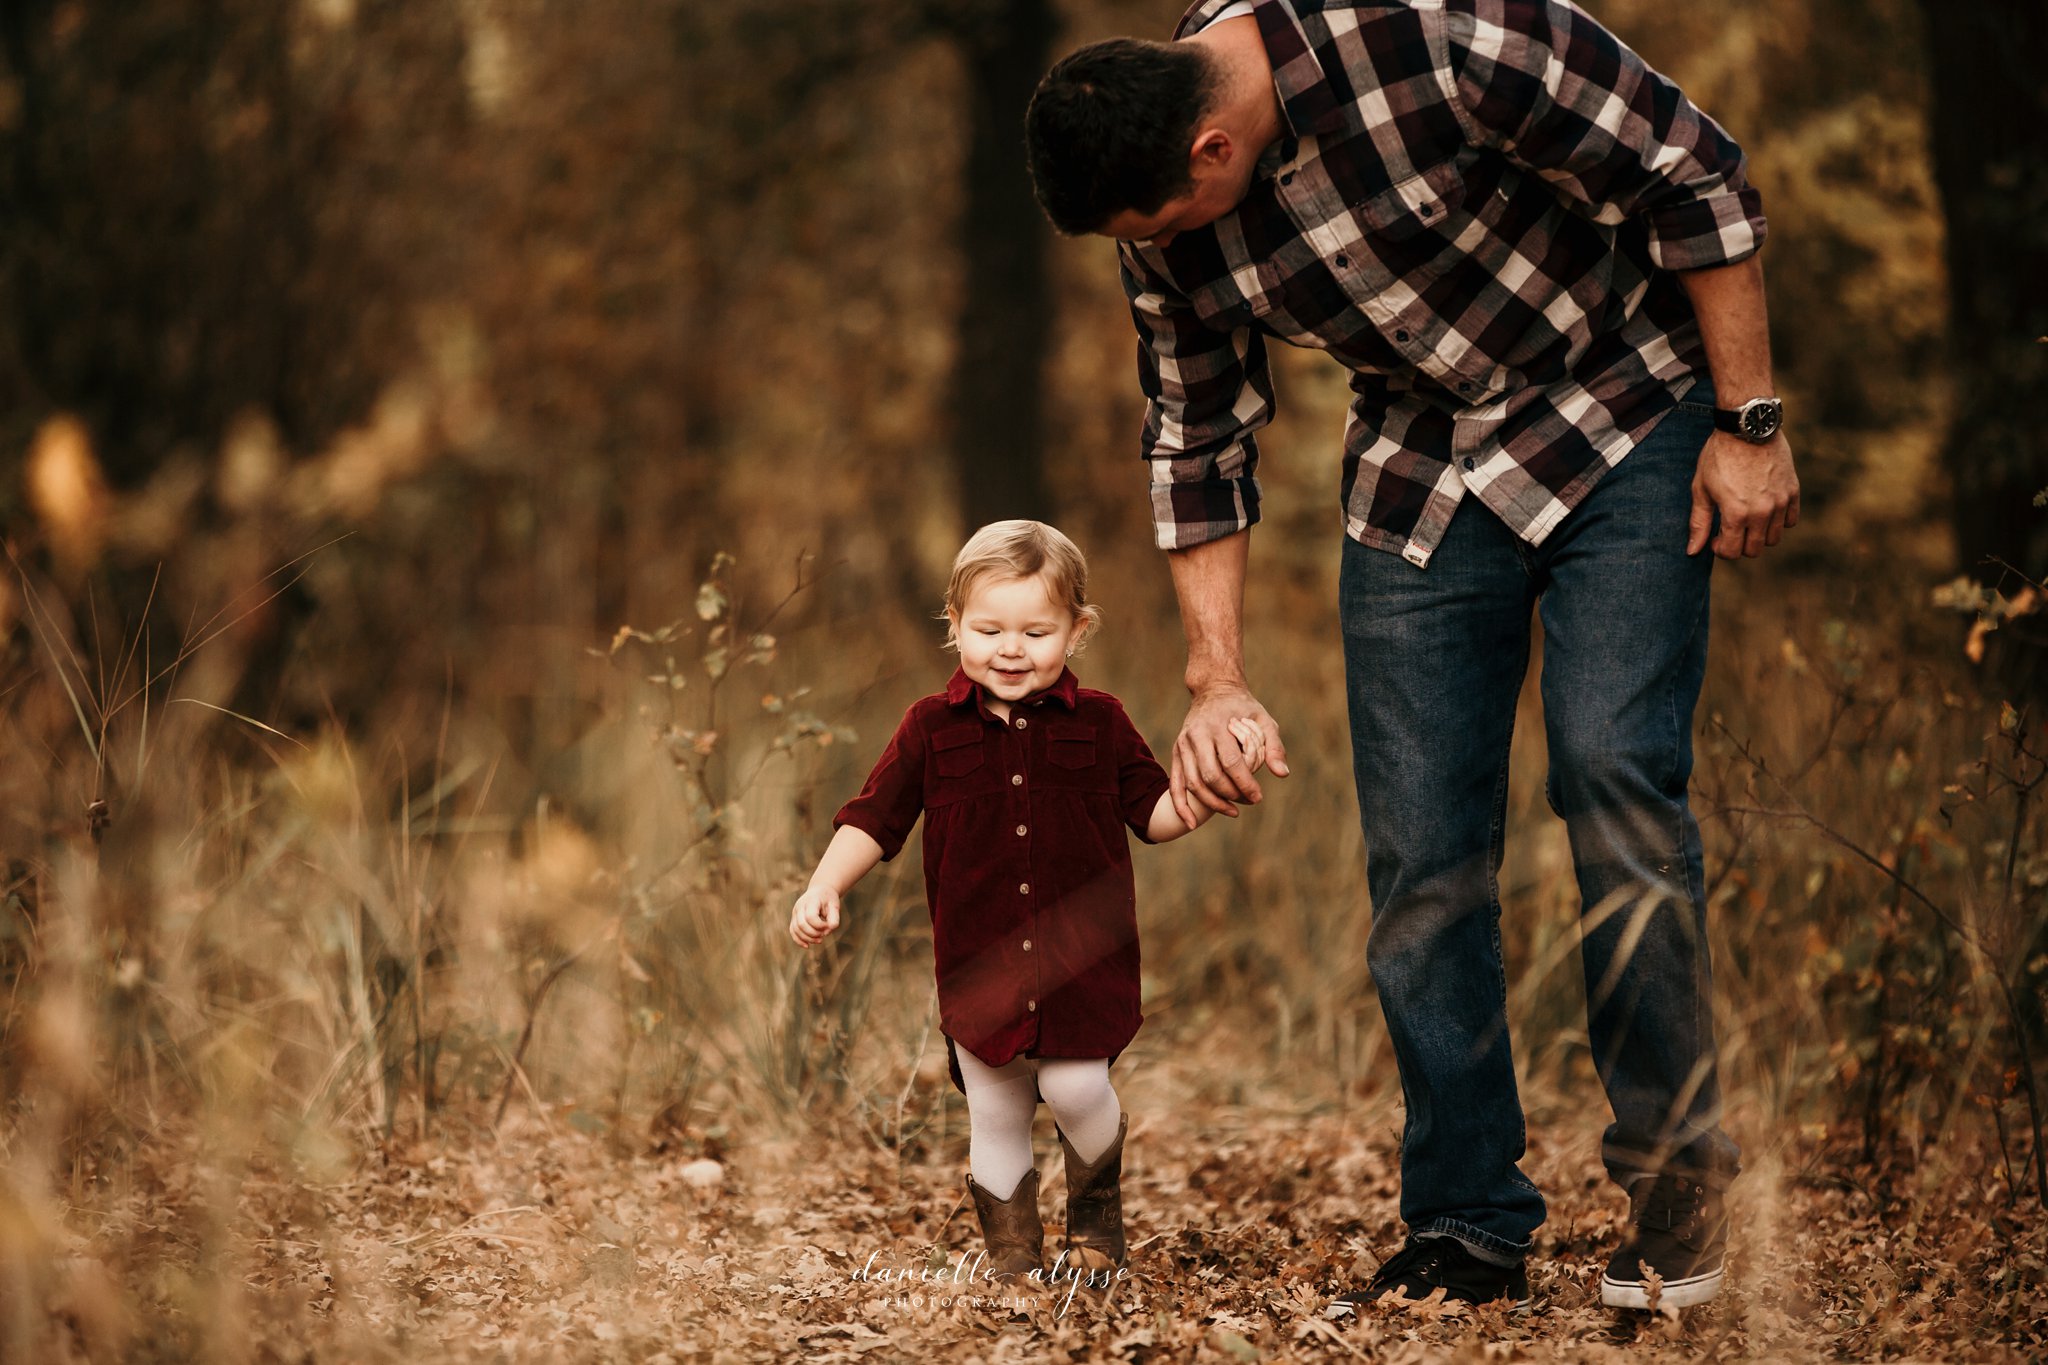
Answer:
[[1075, 1156], [1096, 1160], [1116, 1142], [1122, 1105], [1110, 1087], [1110, 1060], [1100, 1056], [1016, 1056], [987, 1066], [954, 1046], [967, 1083], [967, 1166], [975, 1185], [997, 1199], [1016, 1193], [1032, 1169], [1030, 1121], [1038, 1113], [1032, 1081]]

